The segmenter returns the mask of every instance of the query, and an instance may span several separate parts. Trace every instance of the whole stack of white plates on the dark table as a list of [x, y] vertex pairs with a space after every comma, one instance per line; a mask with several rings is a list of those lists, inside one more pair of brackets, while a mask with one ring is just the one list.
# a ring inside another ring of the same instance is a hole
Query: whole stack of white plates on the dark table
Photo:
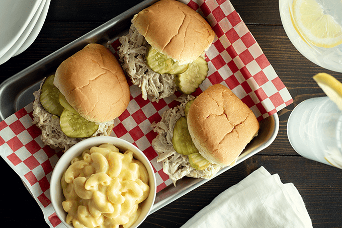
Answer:
[[25, 51], [37, 38], [50, 1], [0, 1], [0, 64]]

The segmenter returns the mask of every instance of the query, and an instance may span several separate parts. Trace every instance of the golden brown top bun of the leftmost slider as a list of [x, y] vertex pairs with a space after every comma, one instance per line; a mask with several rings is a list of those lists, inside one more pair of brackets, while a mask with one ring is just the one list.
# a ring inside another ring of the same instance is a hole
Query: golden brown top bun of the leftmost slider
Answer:
[[130, 100], [123, 69], [101, 44], [88, 44], [64, 60], [53, 84], [83, 118], [93, 122], [115, 119]]

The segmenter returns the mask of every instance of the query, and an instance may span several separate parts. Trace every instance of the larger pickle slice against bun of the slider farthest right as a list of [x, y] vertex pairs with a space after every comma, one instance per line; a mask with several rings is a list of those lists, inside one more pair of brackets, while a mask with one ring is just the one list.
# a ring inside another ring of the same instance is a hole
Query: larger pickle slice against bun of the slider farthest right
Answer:
[[176, 152], [181, 155], [190, 155], [198, 152], [198, 149], [191, 139], [187, 119], [184, 116], [176, 121], [172, 144]]

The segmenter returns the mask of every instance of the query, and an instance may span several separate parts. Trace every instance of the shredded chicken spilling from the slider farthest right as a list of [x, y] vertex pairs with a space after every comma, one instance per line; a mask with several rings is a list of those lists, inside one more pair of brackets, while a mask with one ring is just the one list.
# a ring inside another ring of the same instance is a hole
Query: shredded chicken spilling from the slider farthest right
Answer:
[[182, 95], [177, 99], [181, 102], [180, 105], [164, 111], [161, 121], [152, 124], [153, 130], [158, 133], [152, 140], [152, 146], [159, 154], [157, 162], [162, 162], [163, 172], [169, 176], [175, 186], [176, 181], [183, 177], [210, 179], [221, 168], [220, 165], [211, 164], [204, 170], [196, 170], [191, 167], [188, 156], [178, 154], [173, 147], [172, 137], [175, 123], [180, 117], [185, 116], [185, 105], [193, 98], [191, 95]]

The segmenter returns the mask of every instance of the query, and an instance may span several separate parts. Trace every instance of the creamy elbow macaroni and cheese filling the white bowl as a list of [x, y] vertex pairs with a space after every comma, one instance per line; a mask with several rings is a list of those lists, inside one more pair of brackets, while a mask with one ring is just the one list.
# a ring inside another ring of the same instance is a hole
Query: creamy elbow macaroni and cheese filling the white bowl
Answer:
[[139, 217], [139, 203], [149, 194], [145, 166], [113, 144], [104, 143], [71, 160], [61, 186], [66, 222], [75, 228], [129, 227]]

